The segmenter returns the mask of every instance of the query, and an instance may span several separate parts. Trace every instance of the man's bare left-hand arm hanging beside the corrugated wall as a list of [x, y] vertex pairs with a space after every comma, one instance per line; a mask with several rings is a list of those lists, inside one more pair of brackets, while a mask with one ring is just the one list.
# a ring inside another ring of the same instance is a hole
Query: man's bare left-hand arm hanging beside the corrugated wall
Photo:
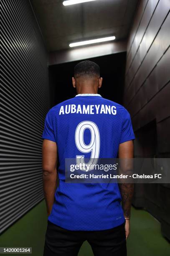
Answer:
[[47, 215], [50, 215], [57, 182], [57, 145], [56, 142], [43, 140], [42, 147], [43, 191], [46, 200]]

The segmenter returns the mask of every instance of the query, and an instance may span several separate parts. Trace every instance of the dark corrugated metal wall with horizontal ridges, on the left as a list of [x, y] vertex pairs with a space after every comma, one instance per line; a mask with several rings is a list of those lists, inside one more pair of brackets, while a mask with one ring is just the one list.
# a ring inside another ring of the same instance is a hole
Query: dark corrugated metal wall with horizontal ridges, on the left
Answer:
[[47, 52], [28, 0], [0, 0], [0, 232], [43, 199]]

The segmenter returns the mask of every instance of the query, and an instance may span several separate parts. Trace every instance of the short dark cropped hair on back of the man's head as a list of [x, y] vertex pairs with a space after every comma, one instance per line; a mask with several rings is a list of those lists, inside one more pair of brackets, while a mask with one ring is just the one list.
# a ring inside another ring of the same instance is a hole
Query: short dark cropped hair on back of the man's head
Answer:
[[74, 77], [86, 76], [89, 78], [100, 76], [100, 67], [93, 61], [81, 61], [74, 67]]

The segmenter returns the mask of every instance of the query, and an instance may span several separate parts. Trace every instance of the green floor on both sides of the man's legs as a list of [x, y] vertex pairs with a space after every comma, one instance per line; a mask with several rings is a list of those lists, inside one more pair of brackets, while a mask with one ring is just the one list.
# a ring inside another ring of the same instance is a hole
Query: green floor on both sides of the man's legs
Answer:
[[[43, 200], [0, 236], [0, 247], [32, 247], [33, 256], [42, 256], [46, 224], [46, 206]], [[162, 237], [160, 223], [145, 210], [132, 208], [127, 250], [128, 256], [170, 255], [170, 243]], [[83, 244], [79, 256], [93, 256], [88, 243]]]

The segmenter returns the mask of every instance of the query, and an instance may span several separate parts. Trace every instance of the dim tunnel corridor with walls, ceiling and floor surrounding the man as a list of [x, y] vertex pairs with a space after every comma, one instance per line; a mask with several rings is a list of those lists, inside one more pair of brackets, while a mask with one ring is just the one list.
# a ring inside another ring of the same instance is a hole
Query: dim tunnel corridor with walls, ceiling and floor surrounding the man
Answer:
[[[66, 8], [61, 0], [0, 0], [0, 12], [0, 247], [30, 246], [41, 256], [47, 225], [41, 136], [48, 111], [76, 96], [76, 64], [98, 64], [99, 94], [128, 110], [134, 158], [170, 158], [170, 1]], [[113, 35], [114, 41], [69, 47]], [[169, 171], [166, 160], [163, 167]], [[170, 181], [134, 185], [127, 251], [170, 255]], [[79, 256], [87, 255], [93, 253], [85, 242]]]

